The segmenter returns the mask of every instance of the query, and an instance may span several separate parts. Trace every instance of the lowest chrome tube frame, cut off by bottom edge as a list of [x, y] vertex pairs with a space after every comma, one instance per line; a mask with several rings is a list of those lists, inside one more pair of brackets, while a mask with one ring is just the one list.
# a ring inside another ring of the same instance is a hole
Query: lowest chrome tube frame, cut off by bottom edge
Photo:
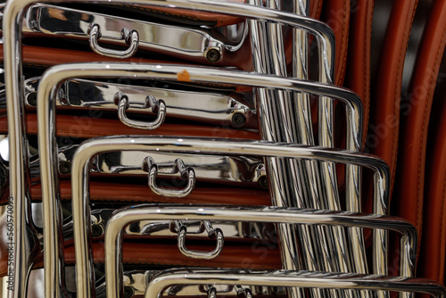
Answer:
[[445, 297], [444, 286], [424, 278], [383, 277], [349, 273], [311, 271], [236, 271], [212, 269], [169, 270], [153, 277], [145, 292], [146, 298], [161, 298], [162, 291], [174, 285], [249, 285], [299, 286], [355, 290], [386, 290], [430, 294]]

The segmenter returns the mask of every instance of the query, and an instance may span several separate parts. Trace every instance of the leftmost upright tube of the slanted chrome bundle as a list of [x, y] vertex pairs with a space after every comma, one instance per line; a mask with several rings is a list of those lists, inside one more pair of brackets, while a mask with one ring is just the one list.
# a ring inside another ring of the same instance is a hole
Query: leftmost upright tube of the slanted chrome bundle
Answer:
[[[249, 4], [262, 6], [260, 0], [250, 0]], [[252, 64], [253, 70], [263, 74], [273, 74], [274, 65], [270, 60], [277, 59], [276, 53], [272, 53], [268, 43], [276, 44], [276, 40], [268, 40], [268, 24], [265, 21], [250, 21], [251, 28], [251, 44], [252, 44]], [[289, 99], [280, 95], [284, 95], [283, 90], [268, 90], [265, 88], [254, 89], [257, 97], [257, 106], [260, 121], [260, 137], [263, 140], [279, 142], [282, 141], [282, 127], [288, 127], [289, 123], [285, 119], [284, 104], [291, 104]], [[277, 121], [280, 120], [280, 121]], [[298, 182], [297, 177], [293, 177], [293, 173], [288, 170], [287, 162], [276, 158], [267, 158], [266, 166], [268, 171], [268, 188], [271, 195], [271, 203], [279, 207], [292, 207], [293, 191], [290, 189], [289, 181]], [[293, 177], [290, 177], [290, 175]], [[301, 187], [302, 189], [302, 187]], [[295, 194], [297, 200], [301, 194]], [[301, 269], [301, 260], [299, 256], [300, 247], [298, 244], [297, 228], [295, 226], [277, 225], [277, 238], [279, 241], [280, 256], [282, 268], [287, 270]], [[305, 234], [305, 228], [300, 228], [301, 234]], [[310, 239], [310, 238], [308, 238]], [[308, 251], [307, 247], [301, 245], [301, 250]], [[304, 252], [308, 254], [309, 252]], [[315, 253], [311, 253], [315, 255]], [[299, 298], [303, 293], [297, 288], [288, 289], [290, 298]]]

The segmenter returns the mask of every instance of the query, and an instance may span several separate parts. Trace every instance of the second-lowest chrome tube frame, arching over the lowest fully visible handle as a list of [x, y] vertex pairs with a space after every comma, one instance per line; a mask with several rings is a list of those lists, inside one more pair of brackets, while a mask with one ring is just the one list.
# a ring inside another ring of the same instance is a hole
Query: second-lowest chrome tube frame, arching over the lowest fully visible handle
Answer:
[[[388, 228], [401, 233], [401, 252], [404, 258], [401, 266], [415, 264], [417, 230], [404, 219], [359, 214], [343, 211], [316, 211], [286, 209], [274, 207], [209, 207], [209, 206], [133, 206], [116, 212], [109, 220], [105, 231], [106, 285], [107, 296], [115, 298], [120, 293], [121, 276], [121, 242], [123, 229], [139, 220], [244, 220], [254, 222], [293, 223], [305, 225], [329, 225], [360, 228]], [[403, 245], [409, 244], [409, 245]], [[78, 260], [77, 260], [78, 261]], [[410, 276], [415, 273], [410, 268]], [[332, 273], [335, 275], [335, 273]], [[246, 285], [246, 284], [242, 284]], [[266, 286], [266, 285], [265, 285]]]

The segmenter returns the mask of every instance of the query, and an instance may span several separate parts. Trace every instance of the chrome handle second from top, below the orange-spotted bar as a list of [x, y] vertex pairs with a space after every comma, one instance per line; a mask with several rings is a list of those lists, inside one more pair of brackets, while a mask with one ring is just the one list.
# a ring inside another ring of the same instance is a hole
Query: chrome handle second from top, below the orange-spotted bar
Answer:
[[150, 106], [152, 108], [152, 112], [156, 112], [158, 110], [158, 116], [156, 117], [156, 120], [153, 120], [153, 122], [129, 119], [126, 111], [130, 106], [130, 103], [128, 102], [128, 96], [122, 92], [117, 92], [114, 95], [114, 102], [116, 105], [118, 105], [118, 117], [120, 118], [120, 121], [130, 128], [156, 129], [159, 128], [166, 119], [166, 103], [164, 103], [164, 101], [161, 99], [157, 101], [152, 95], [146, 97], [146, 104], [142, 108], [144, 109]]

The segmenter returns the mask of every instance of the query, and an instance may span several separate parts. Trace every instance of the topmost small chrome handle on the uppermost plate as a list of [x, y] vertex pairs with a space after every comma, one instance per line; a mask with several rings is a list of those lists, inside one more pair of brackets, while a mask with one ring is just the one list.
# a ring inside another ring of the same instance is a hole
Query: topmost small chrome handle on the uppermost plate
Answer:
[[88, 27], [88, 41], [90, 43], [91, 49], [97, 53], [102, 54], [103, 56], [112, 57], [112, 58], [121, 58], [125, 59], [133, 56], [136, 53], [136, 50], [139, 45], [139, 35], [136, 30], [130, 31], [127, 28], [121, 30], [121, 39], [126, 41], [128, 44], [128, 49], [125, 51], [119, 50], [111, 50], [102, 46], [99, 46], [97, 40], [101, 37], [101, 28], [96, 23], [91, 23]]

